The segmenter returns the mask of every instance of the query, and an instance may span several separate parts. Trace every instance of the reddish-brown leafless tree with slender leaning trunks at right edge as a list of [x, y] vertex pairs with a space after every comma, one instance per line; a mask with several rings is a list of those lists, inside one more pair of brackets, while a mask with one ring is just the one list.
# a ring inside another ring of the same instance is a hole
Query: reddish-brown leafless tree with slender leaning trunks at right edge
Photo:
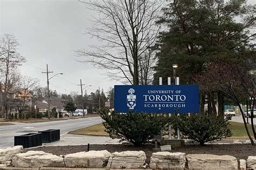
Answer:
[[[247, 135], [254, 145], [240, 103], [248, 97], [252, 99], [251, 104], [255, 103], [255, 75], [249, 75], [246, 68], [232, 63], [211, 63], [207, 65], [207, 72], [197, 75], [194, 80], [200, 88], [209, 91], [221, 91], [238, 105]], [[253, 118], [251, 118], [251, 125], [254, 138], [256, 138]]]

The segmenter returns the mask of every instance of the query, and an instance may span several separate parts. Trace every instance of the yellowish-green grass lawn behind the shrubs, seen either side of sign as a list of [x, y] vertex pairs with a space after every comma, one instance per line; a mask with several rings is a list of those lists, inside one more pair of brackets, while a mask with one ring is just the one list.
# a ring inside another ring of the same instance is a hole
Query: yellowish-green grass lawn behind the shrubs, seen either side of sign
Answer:
[[[253, 137], [251, 125], [248, 124], [247, 126], [248, 126], [248, 129], [250, 130], [252, 137]], [[256, 126], [254, 126], [254, 127], [256, 130]], [[244, 123], [230, 122], [230, 126], [228, 126], [228, 128], [230, 128], [230, 130], [232, 131], [232, 134], [233, 134], [233, 136], [231, 138], [248, 138], [246, 131], [245, 131]], [[109, 136], [109, 134], [106, 133], [104, 131], [104, 129], [105, 128], [104, 128], [103, 124], [100, 123], [97, 125], [89, 126], [87, 128], [82, 128], [82, 129], [78, 129], [75, 131], [71, 131], [69, 133], [92, 135], [92, 136]]]

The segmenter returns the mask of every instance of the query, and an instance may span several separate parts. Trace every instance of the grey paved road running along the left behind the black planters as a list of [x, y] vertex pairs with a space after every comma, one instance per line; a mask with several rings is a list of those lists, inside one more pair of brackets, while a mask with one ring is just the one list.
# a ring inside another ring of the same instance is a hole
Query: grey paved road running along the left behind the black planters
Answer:
[[69, 131], [85, 128], [102, 122], [100, 117], [69, 119], [41, 123], [16, 123], [15, 125], [0, 126], [0, 148], [14, 146], [14, 136], [48, 129], [60, 129], [60, 136]]

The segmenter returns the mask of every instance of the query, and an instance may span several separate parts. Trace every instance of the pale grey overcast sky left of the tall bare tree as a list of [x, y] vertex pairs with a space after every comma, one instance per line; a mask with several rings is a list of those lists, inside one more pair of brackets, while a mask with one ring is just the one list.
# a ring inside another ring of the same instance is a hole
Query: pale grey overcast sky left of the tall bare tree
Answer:
[[[248, 3], [255, 4], [256, 0]], [[98, 87], [107, 91], [121, 83], [107, 79], [105, 70], [77, 62], [73, 52], [97, 42], [82, 34], [91, 25], [91, 15], [92, 11], [77, 0], [0, 0], [0, 34], [16, 36], [21, 44], [18, 52], [27, 60], [20, 68], [22, 75], [36, 77], [42, 86], [46, 86], [46, 74], [42, 71], [48, 63], [53, 71], [50, 76], [64, 73], [50, 80], [52, 90], [79, 92], [77, 84], [82, 79], [83, 84], [92, 86], [87, 88], [88, 93]]]

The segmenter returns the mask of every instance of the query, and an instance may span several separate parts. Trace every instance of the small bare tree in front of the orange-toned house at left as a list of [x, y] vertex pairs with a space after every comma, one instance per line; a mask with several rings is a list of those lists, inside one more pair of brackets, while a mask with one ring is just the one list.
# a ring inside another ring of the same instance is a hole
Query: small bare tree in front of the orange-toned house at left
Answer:
[[21, 86], [17, 89], [18, 96], [15, 99], [15, 105], [19, 114], [31, 108], [33, 92], [39, 87], [39, 80], [24, 76], [21, 78]]

